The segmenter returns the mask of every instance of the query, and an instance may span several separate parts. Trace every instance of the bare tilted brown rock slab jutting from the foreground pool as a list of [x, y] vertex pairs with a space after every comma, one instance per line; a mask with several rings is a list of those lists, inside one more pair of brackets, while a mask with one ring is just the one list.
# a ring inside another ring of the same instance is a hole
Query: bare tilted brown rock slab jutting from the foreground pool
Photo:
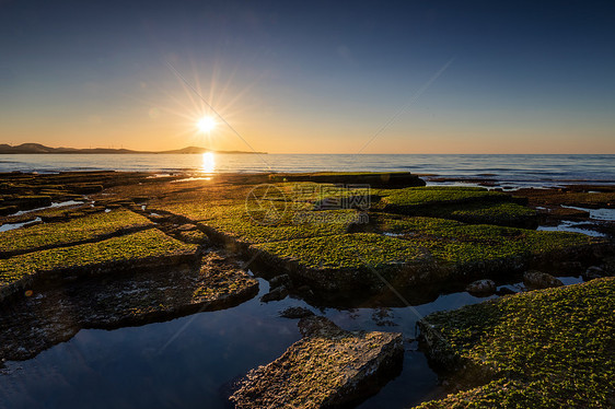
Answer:
[[299, 323], [303, 338], [251, 371], [230, 397], [236, 408], [332, 408], [376, 393], [401, 369], [402, 334], [346, 331], [324, 317]]

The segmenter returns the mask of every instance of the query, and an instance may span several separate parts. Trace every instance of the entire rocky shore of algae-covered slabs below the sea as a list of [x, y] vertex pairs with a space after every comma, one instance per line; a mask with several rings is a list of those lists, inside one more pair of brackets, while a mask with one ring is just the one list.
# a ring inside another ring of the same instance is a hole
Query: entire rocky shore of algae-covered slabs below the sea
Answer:
[[[202, 180], [14, 173], [0, 175], [0, 184], [4, 361], [36, 357], [82, 328], [139, 326], [236, 306], [258, 293], [253, 274], [269, 282], [262, 303], [290, 296], [315, 308], [407, 306], [456, 291], [500, 296], [421, 322], [434, 367], [457, 373], [451, 381], [457, 395], [426, 407], [484, 402], [489, 394], [531, 401], [547, 379], [543, 375], [556, 371], [549, 362], [571, 353], [569, 342], [584, 342], [600, 357], [612, 342], [588, 317], [611, 325], [603, 306], [612, 302], [606, 277], [615, 274], [615, 230], [593, 212], [613, 207], [614, 188], [498, 191], [425, 186], [408, 173]], [[585, 223], [592, 234], [536, 230], [571, 221]], [[590, 282], [565, 287], [554, 276]], [[501, 287], [512, 282], [523, 287]], [[351, 407], [399, 371], [401, 334], [346, 331], [310, 308], [282, 316], [301, 318], [303, 338], [245, 375], [231, 397], [239, 408]], [[573, 320], [571, 329], [559, 330], [566, 319]], [[530, 322], [544, 325], [534, 331]], [[494, 329], [500, 331], [495, 338], [484, 336]], [[512, 330], [524, 335], [507, 339]], [[571, 331], [595, 332], [601, 343]], [[567, 349], [548, 347], [546, 366], [536, 363], [523, 377], [517, 358], [507, 363], [502, 357], [533, 357], [524, 343], [532, 337]], [[591, 353], [588, 365], [597, 360]], [[602, 366], [588, 367], [597, 377], [605, 374]], [[553, 402], [610, 402], [593, 383], [583, 384], [581, 395], [552, 384]]]

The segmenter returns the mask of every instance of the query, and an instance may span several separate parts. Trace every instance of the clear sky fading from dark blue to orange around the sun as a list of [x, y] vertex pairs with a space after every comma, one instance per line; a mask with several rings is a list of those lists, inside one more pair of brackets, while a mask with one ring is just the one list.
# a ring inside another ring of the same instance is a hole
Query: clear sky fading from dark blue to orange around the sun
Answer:
[[0, 0], [0, 143], [615, 153], [614, 21], [613, 1]]

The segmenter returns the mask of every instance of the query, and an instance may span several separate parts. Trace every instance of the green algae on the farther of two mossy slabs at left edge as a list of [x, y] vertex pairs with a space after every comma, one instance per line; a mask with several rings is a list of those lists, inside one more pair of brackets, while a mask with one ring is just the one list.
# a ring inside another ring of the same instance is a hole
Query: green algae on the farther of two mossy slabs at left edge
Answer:
[[63, 223], [46, 223], [0, 233], [0, 254], [33, 252], [70, 245], [128, 229], [153, 226], [147, 218], [129, 210], [115, 210], [78, 218]]

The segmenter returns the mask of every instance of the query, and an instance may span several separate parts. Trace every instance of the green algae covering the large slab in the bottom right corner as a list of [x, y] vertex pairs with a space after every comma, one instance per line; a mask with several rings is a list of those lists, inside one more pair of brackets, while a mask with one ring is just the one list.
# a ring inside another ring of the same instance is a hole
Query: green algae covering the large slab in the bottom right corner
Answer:
[[615, 279], [602, 279], [427, 316], [421, 329], [443, 340], [432, 353], [495, 382], [421, 408], [613, 405], [614, 306]]

